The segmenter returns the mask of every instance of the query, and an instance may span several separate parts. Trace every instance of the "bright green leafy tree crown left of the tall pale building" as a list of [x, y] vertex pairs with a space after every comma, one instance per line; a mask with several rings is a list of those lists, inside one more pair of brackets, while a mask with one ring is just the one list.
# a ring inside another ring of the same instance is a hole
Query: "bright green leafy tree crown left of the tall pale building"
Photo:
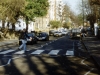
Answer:
[[26, 20], [33, 20], [34, 17], [45, 16], [48, 6], [48, 0], [26, 0], [23, 14]]

